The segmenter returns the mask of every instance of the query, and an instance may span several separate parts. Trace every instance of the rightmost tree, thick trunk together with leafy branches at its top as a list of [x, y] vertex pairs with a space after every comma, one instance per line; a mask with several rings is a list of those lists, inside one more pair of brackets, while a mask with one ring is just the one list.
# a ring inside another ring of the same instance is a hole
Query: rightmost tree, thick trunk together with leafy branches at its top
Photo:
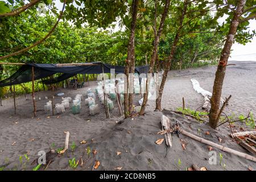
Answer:
[[[209, 114], [209, 125], [214, 129], [216, 129], [216, 127], [218, 126], [218, 120], [220, 119], [220, 115], [221, 115], [220, 100], [221, 100], [222, 86], [225, 78], [226, 67], [228, 65], [230, 50], [235, 40], [238, 26], [240, 25], [240, 23], [246, 22], [256, 17], [255, 1], [247, 2], [248, 9], [245, 9], [246, 0], [234, 1], [233, 6], [236, 8], [232, 9], [232, 14], [230, 15], [231, 21], [229, 24], [229, 31], [228, 31], [228, 34], [226, 35], [225, 45], [224, 45], [224, 48], [222, 49], [220, 60], [218, 62], [218, 67], [217, 67], [214, 84], [213, 84], [213, 92], [212, 92], [213, 94], [212, 94], [212, 98], [210, 98], [211, 107], [210, 107], [210, 114]], [[230, 6], [227, 7], [227, 9], [230, 9]], [[254, 11], [251, 11], [251, 10], [254, 10]], [[251, 13], [249, 13], [249, 11], [251, 11]], [[247, 15], [246, 18], [242, 16], [243, 13]]]

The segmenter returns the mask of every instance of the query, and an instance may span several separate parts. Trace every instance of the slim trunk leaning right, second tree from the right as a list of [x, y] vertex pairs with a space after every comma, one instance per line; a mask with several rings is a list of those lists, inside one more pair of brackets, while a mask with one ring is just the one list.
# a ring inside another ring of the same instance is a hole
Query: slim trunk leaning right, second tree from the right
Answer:
[[176, 35], [175, 35], [175, 38], [174, 38], [174, 42], [172, 43], [171, 52], [170, 52], [170, 55], [168, 56], [166, 67], [164, 68], [162, 82], [160, 84], [160, 88], [159, 88], [159, 91], [158, 91], [158, 98], [156, 98], [156, 101], [155, 101], [155, 110], [162, 110], [162, 108], [161, 108], [161, 100], [162, 100], [164, 84], [166, 83], [166, 78], [167, 78], [168, 72], [170, 71], [170, 68], [171, 68], [171, 63], [172, 63], [172, 59], [174, 57], [174, 53], [175, 53], [175, 50], [176, 50], [176, 47], [177, 47], [177, 43], [179, 42], [180, 31], [182, 29], [183, 20], [184, 20], [186, 11], [187, 11], [187, 5], [188, 5], [187, 1], [185, 1], [184, 2], [183, 12], [182, 12], [181, 17], [180, 17], [179, 28], [178, 28], [178, 30], [176, 32]]

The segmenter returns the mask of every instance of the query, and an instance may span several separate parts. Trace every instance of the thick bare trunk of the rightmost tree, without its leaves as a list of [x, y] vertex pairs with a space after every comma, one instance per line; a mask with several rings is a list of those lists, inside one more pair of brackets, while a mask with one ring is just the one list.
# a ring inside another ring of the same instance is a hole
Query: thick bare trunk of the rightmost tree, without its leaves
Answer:
[[230, 55], [230, 49], [234, 42], [234, 36], [237, 32], [239, 19], [242, 15], [243, 8], [245, 7], [246, 0], [240, 0], [237, 4], [237, 9], [234, 11], [232, 22], [230, 23], [229, 33], [226, 38], [224, 48], [221, 51], [220, 61], [218, 62], [218, 68], [215, 74], [212, 98], [210, 98], [210, 114], [209, 114], [209, 125], [216, 129], [218, 126], [219, 113], [220, 113], [220, 100], [222, 85], [225, 77], [226, 65]]

